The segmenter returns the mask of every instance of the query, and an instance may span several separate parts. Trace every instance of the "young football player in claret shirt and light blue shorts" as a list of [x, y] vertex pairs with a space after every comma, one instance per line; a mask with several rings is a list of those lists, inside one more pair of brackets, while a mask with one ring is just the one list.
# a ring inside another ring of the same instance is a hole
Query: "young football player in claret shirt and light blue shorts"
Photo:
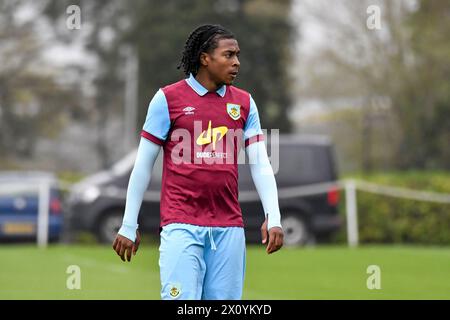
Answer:
[[238, 202], [241, 147], [261, 199], [267, 253], [283, 245], [278, 193], [258, 110], [232, 86], [239, 45], [219, 25], [188, 37], [180, 67], [187, 78], [150, 102], [131, 173], [123, 224], [113, 248], [123, 261], [139, 247], [138, 214], [162, 147], [160, 276], [162, 299], [241, 299], [245, 237]]

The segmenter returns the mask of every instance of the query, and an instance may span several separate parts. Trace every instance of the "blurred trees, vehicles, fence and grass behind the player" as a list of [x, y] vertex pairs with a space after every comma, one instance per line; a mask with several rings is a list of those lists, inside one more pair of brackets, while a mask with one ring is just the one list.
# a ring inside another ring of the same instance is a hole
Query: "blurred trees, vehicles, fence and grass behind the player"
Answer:
[[[276, 176], [289, 246], [267, 257], [249, 245], [244, 298], [450, 298], [448, 1], [0, 0], [0, 9], [0, 298], [158, 299], [160, 181], [147, 194], [155, 206], [144, 209], [157, 214], [143, 222], [142, 257], [124, 267], [107, 243], [148, 103], [184, 77], [185, 40], [203, 23], [236, 35], [235, 85], [286, 152], [298, 150], [283, 163], [280, 149]], [[253, 207], [242, 206], [262, 212], [252, 188], [243, 193]], [[366, 288], [372, 264], [387, 274], [378, 291]], [[80, 266], [84, 290], [66, 286], [69, 265]], [[274, 268], [291, 273], [269, 290], [258, 279]], [[114, 287], [114, 273], [134, 280]]]

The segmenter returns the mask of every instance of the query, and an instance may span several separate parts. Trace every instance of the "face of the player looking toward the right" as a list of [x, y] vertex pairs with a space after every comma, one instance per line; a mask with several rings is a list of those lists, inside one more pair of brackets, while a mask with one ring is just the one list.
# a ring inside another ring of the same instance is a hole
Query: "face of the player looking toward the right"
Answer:
[[207, 70], [217, 84], [231, 85], [239, 72], [239, 45], [235, 39], [221, 39], [208, 56]]

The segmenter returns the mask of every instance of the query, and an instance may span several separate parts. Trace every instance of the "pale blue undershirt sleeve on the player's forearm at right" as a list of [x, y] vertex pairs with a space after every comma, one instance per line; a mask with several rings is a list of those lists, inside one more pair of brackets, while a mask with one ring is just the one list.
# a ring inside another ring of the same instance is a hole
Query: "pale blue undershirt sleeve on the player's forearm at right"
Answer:
[[267, 230], [273, 227], [281, 228], [277, 183], [264, 141], [252, 143], [245, 150], [256, 191], [261, 199], [264, 214], [268, 218]]

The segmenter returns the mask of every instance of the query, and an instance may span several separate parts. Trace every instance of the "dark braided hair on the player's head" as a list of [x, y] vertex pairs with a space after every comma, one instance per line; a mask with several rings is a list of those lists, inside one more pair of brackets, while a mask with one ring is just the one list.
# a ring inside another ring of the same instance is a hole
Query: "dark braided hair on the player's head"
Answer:
[[183, 67], [184, 73], [188, 76], [192, 73], [197, 75], [200, 67], [200, 55], [202, 52], [211, 52], [217, 48], [221, 39], [235, 39], [233, 33], [226, 30], [221, 25], [204, 24], [191, 32], [182, 53], [180, 64], [177, 69]]

